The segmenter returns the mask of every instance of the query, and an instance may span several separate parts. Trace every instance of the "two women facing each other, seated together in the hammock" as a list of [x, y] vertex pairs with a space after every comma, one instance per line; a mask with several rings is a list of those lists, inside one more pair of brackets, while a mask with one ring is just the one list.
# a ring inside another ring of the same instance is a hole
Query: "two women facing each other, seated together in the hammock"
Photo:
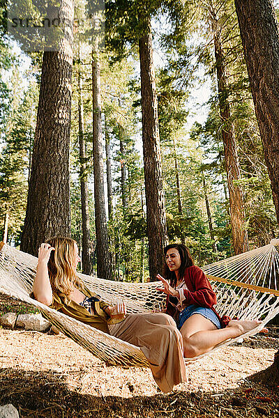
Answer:
[[[184, 245], [165, 248], [165, 274], [158, 275], [167, 295], [166, 313], [128, 314], [123, 302], [110, 306], [91, 293], [77, 276], [77, 243], [52, 238], [40, 246], [33, 297], [92, 327], [139, 346], [163, 392], [186, 380], [183, 357], [206, 353], [218, 343], [256, 327], [259, 321], [221, 319], [216, 295], [204, 272], [193, 265]], [[227, 325], [227, 327], [225, 327]], [[264, 329], [265, 330], [265, 329]]]

